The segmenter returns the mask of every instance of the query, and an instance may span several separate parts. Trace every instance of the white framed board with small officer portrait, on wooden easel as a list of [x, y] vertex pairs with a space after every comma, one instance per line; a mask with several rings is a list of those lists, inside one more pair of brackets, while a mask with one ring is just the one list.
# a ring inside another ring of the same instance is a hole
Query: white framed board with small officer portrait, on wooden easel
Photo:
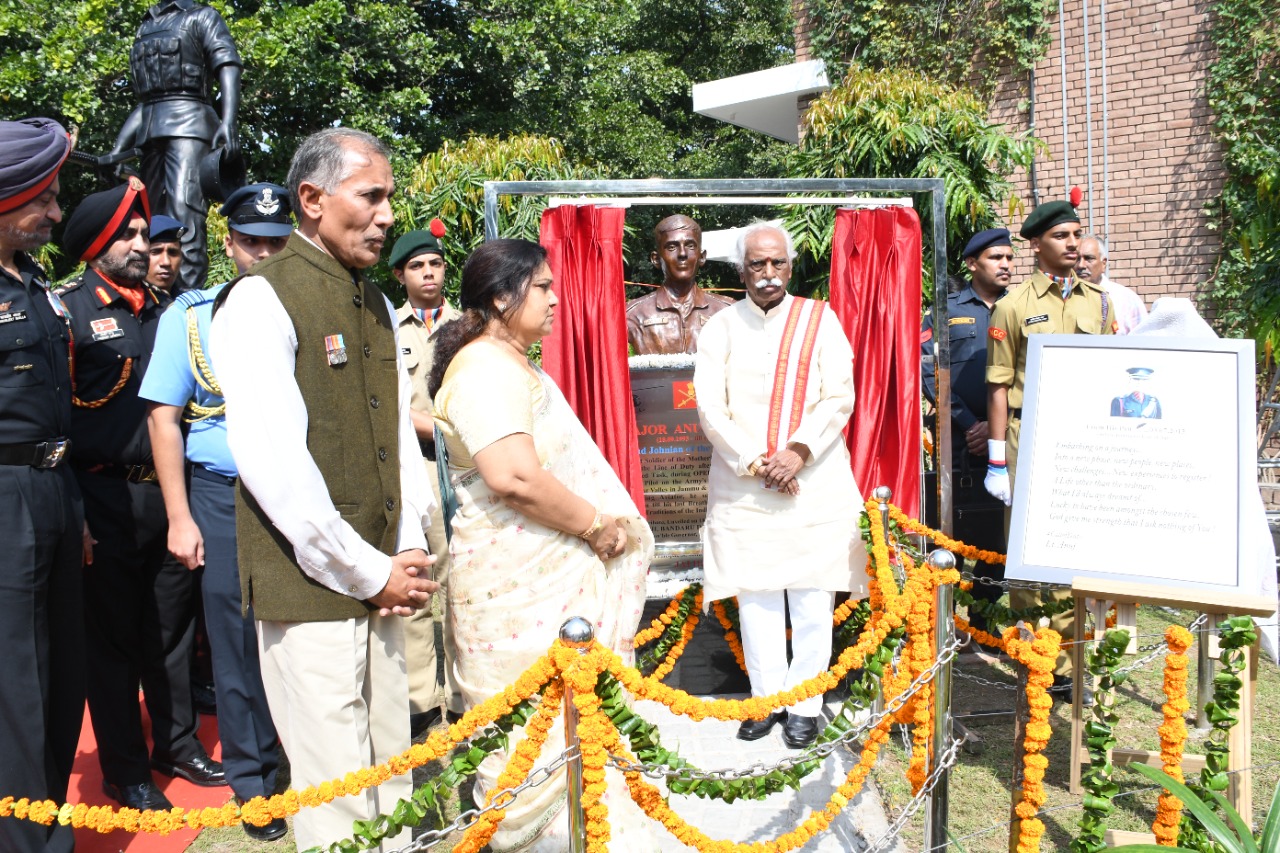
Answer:
[[1253, 359], [1253, 341], [1030, 336], [1006, 576], [1256, 594]]

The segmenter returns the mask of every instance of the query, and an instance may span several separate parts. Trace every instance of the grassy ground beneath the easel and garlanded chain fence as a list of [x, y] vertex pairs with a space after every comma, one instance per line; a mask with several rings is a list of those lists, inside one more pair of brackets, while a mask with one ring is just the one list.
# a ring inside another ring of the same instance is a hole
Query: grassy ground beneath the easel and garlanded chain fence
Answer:
[[[1138, 610], [1138, 630], [1142, 637], [1138, 643], [1147, 646], [1158, 642], [1165, 626], [1176, 621], [1188, 625], [1194, 615], [1174, 612], [1158, 607]], [[1194, 704], [1196, 666], [1194, 647], [1189, 652], [1188, 692]], [[1126, 658], [1132, 661], [1133, 658]], [[1007, 662], [980, 660], [965, 656], [959, 671], [963, 674], [1011, 685], [1016, 678]], [[1157, 657], [1146, 667], [1133, 672], [1117, 697], [1116, 708], [1120, 722], [1116, 726], [1116, 739], [1121, 745], [1143, 749], [1158, 749], [1160, 739], [1156, 727], [1161, 722], [1160, 706], [1164, 702], [1161, 680], [1164, 657]], [[1007, 710], [1012, 707], [1014, 692], [957, 676], [954, 679], [955, 712]], [[1189, 725], [1193, 726], [1194, 720]], [[1064, 850], [1075, 836], [1075, 825], [1080, 817], [1080, 798], [1068, 790], [1069, 765], [1068, 744], [1071, 734], [1070, 706], [1056, 703], [1051, 717], [1053, 738], [1047, 754], [1050, 768], [1044, 786], [1048, 793], [1044, 824], [1047, 833], [1042, 849]], [[1012, 720], [995, 717], [986, 724], [973, 725], [982, 738], [980, 754], [961, 753], [960, 761], [951, 776], [948, 829], [955, 840], [952, 849], [960, 853], [1000, 852], [1009, 844], [1007, 825], [1011, 802], [1010, 776], [1014, 762]], [[1192, 727], [1187, 752], [1197, 752], [1203, 743]], [[1253, 722], [1253, 813], [1254, 821], [1266, 816], [1271, 793], [1280, 783], [1280, 669], [1266, 656], [1262, 656]], [[439, 763], [421, 767], [413, 774], [415, 784], [421, 784], [440, 771]], [[899, 738], [893, 738], [881, 752], [879, 762], [872, 779], [878, 785], [881, 797], [890, 813], [896, 813], [911, 797], [905, 780], [906, 754]], [[1116, 780], [1123, 790], [1147, 788], [1143, 777], [1128, 770], [1119, 770]], [[1115, 800], [1116, 811], [1108, 826], [1120, 830], [1149, 830], [1155, 817], [1156, 794], [1153, 792], [1123, 795]], [[470, 798], [465, 806], [470, 807]], [[448, 804], [447, 815], [452, 820], [462, 804], [457, 797]], [[904, 831], [906, 848], [923, 849], [923, 809]], [[461, 833], [456, 834], [457, 840]], [[448, 850], [452, 843], [435, 849]], [[205, 830], [189, 848], [196, 853], [294, 853], [292, 833], [282, 841], [255, 844], [239, 829]]]

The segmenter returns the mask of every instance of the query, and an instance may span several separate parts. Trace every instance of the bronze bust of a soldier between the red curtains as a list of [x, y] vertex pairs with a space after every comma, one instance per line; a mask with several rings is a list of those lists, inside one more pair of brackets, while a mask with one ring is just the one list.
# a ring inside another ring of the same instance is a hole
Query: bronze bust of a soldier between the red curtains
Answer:
[[627, 343], [636, 355], [698, 351], [698, 333], [733, 300], [708, 293], [694, 279], [707, 265], [703, 229], [684, 215], [667, 216], [653, 229], [653, 265], [662, 287], [627, 302]]

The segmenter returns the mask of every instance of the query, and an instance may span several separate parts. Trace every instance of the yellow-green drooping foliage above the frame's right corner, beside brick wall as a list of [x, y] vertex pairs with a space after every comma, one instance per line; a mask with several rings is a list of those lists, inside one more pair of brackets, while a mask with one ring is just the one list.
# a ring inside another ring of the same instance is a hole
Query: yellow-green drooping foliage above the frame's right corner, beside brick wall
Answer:
[[[809, 108], [809, 131], [788, 172], [805, 178], [942, 178], [946, 184], [948, 270], [963, 269], [960, 252], [975, 231], [992, 228], [1019, 201], [1006, 175], [1025, 167], [1036, 142], [1011, 136], [987, 119], [987, 108], [968, 88], [938, 83], [910, 70], [872, 72], [858, 67]], [[919, 204], [924, 233], [931, 210]], [[814, 259], [831, 255], [835, 213], [800, 207], [788, 213], [808, 274], [822, 280]], [[925, 269], [932, 269], [925, 240]], [[931, 275], [925, 275], [925, 282]], [[928, 284], [925, 284], [928, 289]]]

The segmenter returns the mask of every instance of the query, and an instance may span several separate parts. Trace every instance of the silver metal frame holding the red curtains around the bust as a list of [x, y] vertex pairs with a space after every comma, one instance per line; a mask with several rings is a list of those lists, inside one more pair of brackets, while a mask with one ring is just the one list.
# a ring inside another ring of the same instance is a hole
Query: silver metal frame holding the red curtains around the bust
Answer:
[[[644, 181], [485, 181], [484, 184], [484, 236], [485, 240], [498, 237], [498, 199], [502, 196], [644, 196], [646, 204], [657, 201], [654, 196], [672, 196], [671, 204], [689, 202], [698, 196], [726, 196], [718, 202], [733, 204], [735, 196], [753, 197], [750, 204], [762, 204], [759, 196], [778, 195], [780, 206], [787, 204], [814, 204], [813, 200], [792, 202], [791, 193], [928, 193], [929, 209], [933, 213], [933, 337], [937, 341], [934, 375], [937, 382], [937, 441], [934, 459], [938, 471], [938, 519], [945, 533], [952, 532], [951, 524], [951, 346], [947, 336], [947, 225], [946, 225], [946, 187], [942, 178], [733, 178], [733, 179], [668, 179], [654, 178]], [[600, 201], [599, 199], [593, 199]], [[844, 205], [847, 199], [832, 199], [827, 204]], [[920, 478], [922, 498], [924, 478]], [[887, 514], [884, 520], [887, 523]], [[940, 598], [941, 608], [950, 610], [950, 587], [941, 588], [947, 596]], [[946, 621], [946, 625], [942, 622]], [[940, 619], [941, 631], [950, 630], [950, 620]], [[950, 670], [950, 667], [948, 667]], [[945, 703], [945, 712], [937, 715], [933, 754], [938, 761], [951, 745], [951, 695], [950, 679], [947, 685], [938, 685], [938, 707]], [[567, 695], [567, 693], [566, 693]], [[928, 826], [925, 829], [927, 849], [937, 849], [946, 844], [947, 825], [947, 785], [942, 774], [931, 797]]]

